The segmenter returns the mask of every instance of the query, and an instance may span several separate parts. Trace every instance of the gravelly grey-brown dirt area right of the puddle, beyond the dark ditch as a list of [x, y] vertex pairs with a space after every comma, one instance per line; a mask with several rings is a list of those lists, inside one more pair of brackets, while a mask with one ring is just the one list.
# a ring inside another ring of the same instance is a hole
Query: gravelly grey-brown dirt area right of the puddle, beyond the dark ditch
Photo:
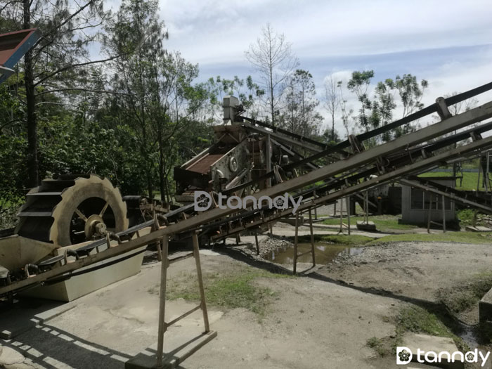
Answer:
[[[490, 274], [492, 245], [446, 242], [391, 242], [365, 247], [358, 255], [339, 255], [318, 273], [403, 299], [439, 302], [440, 293], [464, 288], [480, 274]], [[478, 322], [478, 305], [467, 323]]]

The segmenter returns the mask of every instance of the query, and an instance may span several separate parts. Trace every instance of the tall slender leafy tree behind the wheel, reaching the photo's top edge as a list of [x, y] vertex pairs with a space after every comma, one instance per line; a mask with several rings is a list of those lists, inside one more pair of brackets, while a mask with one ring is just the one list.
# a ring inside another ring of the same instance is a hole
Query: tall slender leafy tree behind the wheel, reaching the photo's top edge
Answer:
[[[106, 27], [105, 48], [122, 58], [113, 63], [113, 90], [126, 93], [118, 98], [122, 121], [135, 136], [141, 166], [138, 178], [145, 180], [149, 198], [153, 198], [155, 176], [155, 141], [149, 139], [156, 112], [158, 62], [164, 56], [162, 42], [168, 37], [164, 23], [157, 18], [157, 0], [124, 0], [115, 20]], [[138, 50], [134, 53], [133, 51]]]

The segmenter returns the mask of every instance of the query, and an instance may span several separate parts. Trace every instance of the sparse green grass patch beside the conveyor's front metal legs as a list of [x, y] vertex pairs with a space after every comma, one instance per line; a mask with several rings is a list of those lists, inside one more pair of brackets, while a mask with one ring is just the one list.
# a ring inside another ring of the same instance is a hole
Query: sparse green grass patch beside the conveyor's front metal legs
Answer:
[[[266, 271], [242, 271], [234, 274], [212, 274], [205, 280], [207, 304], [228, 309], [245, 308], [257, 313], [259, 318], [266, 313], [267, 307], [276, 297], [276, 292], [268, 287], [254, 283], [257, 278], [292, 278], [291, 276], [268, 273]], [[191, 283], [190, 283], [191, 284]], [[198, 301], [198, 287], [188, 283], [172, 285], [167, 292], [168, 299], [183, 298]]]

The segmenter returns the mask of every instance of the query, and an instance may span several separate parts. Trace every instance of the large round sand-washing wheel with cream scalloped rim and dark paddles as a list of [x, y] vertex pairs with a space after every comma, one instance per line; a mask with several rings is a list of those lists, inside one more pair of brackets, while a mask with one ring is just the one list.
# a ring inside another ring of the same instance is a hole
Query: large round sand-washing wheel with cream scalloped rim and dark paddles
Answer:
[[58, 246], [128, 228], [127, 205], [109, 179], [94, 174], [45, 179], [27, 193], [15, 233]]

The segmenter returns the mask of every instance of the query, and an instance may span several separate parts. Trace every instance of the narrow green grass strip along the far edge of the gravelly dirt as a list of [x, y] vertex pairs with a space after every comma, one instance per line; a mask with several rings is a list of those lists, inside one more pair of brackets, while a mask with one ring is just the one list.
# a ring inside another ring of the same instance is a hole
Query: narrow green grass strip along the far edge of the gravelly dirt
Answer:
[[406, 233], [403, 235], [386, 235], [370, 242], [464, 242], [474, 244], [492, 244], [491, 233], [480, 232], [446, 232], [446, 233]]

